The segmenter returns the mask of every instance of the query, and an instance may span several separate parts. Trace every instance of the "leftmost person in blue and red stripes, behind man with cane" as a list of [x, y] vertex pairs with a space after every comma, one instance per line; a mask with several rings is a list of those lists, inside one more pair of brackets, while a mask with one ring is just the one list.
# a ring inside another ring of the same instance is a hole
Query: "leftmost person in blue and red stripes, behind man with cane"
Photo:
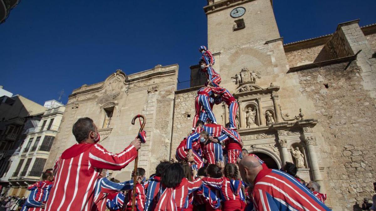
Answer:
[[47, 169], [42, 174], [42, 181], [35, 182], [27, 187], [30, 190], [29, 197], [27, 197], [21, 211], [42, 211], [50, 194], [53, 185], [52, 169]]

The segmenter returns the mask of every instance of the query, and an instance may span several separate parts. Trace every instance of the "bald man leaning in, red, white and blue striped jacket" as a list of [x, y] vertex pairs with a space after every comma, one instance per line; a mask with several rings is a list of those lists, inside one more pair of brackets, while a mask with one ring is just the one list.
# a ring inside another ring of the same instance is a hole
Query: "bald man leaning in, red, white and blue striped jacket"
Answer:
[[253, 156], [241, 159], [239, 169], [246, 185], [253, 186], [255, 210], [330, 210], [291, 175], [276, 169], [263, 169]]

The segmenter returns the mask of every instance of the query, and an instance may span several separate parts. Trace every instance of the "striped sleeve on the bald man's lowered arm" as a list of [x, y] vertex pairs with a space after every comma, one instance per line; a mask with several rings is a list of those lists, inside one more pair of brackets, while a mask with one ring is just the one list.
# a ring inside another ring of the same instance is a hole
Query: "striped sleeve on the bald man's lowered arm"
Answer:
[[279, 210], [277, 207], [276, 202], [274, 201], [273, 197], [261, 189], [253, 190], [253, 205], [255, 206], [255, 210], [259, 211], [273, 211]]

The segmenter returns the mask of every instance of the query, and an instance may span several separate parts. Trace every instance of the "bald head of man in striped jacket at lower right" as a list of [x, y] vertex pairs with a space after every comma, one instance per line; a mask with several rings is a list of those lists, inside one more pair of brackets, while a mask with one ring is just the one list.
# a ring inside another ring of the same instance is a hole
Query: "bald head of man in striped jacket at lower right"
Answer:
[[239, 162], [239, 170], [243, 181], [253, 183], [257, 174], [262, 170], [262, 166], [256, 157], [245, 156]]

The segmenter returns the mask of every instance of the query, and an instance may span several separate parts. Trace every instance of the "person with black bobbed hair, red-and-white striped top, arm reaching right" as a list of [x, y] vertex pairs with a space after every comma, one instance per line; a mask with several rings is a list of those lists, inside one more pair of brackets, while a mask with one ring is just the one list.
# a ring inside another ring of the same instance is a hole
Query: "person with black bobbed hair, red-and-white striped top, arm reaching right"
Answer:
[[161, 178], [162, 188], [155, 211], [191, 210], [188, 195], [201, 187], [201, 179], [189, 181], [184, 177], [182, 164], [173, 163], [167, 167]]

